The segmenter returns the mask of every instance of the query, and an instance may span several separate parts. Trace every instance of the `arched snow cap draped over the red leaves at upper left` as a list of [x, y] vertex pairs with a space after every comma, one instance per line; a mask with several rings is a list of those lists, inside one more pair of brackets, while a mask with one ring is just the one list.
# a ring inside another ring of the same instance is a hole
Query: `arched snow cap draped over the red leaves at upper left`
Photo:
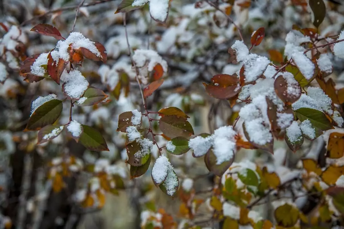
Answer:
[[94, 41], [89, 40], [81, 33], [72, 32], [69, 34], [66, 40], [60, 40], [56, 44], [56, 48], [58, 48], [58, 56], [64, 61], [69, 61], [70, 58], [68, 53], [69, 45], [71, 45], [74, 50], [86, 48], [96, 56], [101, 56]]

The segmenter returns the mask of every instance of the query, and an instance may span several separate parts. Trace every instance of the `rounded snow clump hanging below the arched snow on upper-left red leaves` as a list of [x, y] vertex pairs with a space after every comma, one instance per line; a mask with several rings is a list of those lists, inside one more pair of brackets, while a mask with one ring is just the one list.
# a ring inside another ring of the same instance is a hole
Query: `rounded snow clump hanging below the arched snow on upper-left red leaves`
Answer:
[[63, 72], [61, 76], [63, 89], [67, 96], [72, 99], [80, 98], [88, 88], [88, 81], [77, 69]]

